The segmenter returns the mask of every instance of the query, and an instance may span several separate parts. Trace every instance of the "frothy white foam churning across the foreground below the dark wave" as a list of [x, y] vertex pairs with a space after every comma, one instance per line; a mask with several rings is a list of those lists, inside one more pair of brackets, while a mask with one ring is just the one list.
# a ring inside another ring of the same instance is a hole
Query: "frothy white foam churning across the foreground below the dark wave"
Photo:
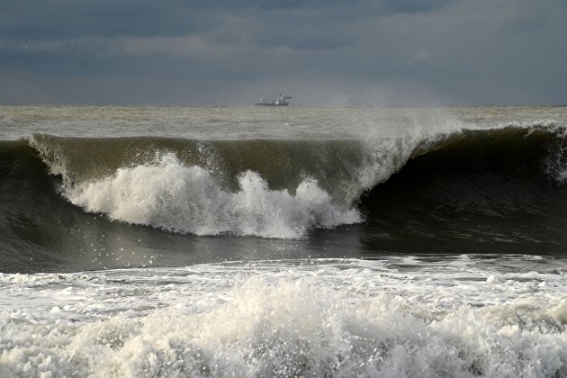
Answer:
[[0, 375], [567, 374], [564, 267], [438, 261], [0, 275]]

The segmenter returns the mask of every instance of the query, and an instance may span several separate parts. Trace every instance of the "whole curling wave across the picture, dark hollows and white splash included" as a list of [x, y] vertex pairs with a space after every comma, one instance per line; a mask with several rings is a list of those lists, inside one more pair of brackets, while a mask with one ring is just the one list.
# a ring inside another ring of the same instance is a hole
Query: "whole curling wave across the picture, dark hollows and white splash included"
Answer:
[[554, 124], [368, 140], [36, 134], [0, 143], [2, 243], [52, 260], [129, 225], [288, 239], [352, 225], [367, 249], [560, 250], [564, 138]]

